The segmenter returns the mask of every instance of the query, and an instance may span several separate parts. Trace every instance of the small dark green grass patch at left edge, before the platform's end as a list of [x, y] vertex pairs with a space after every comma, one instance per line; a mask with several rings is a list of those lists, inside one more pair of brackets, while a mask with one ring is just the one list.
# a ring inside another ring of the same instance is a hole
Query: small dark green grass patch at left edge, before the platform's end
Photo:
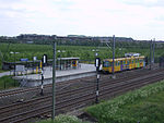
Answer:
[[19, 87], [19, 82], [17, 81], [14, 82], [12, 76], [0, 77], [0, 89], [9, 89], [14, 87]]

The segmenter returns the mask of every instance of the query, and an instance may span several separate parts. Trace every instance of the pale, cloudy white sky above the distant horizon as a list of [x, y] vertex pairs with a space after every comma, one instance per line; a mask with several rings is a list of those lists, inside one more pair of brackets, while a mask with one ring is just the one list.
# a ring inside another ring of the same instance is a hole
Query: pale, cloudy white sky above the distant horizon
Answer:
[[164, 0], [0, 0], [0, 36], [20, 34], [164, 40]]

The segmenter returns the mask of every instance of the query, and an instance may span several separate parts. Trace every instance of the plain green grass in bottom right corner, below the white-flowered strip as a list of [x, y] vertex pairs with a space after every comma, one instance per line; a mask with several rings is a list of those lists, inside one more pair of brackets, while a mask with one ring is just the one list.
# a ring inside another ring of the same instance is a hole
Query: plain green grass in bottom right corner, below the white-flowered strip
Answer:
[[[164, 91], [141, 99], [134, 103], [124, 106], [119, 115], [127, 119], [127, 122], [163, 123], [164, 122]], [[130, 118], [130, 120], [129, 120]]]

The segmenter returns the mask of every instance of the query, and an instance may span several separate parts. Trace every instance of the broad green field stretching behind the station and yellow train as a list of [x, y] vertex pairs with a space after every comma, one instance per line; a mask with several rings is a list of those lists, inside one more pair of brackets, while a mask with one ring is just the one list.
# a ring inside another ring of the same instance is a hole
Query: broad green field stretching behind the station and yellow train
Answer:
[[[57, 52], [57, 57], [79, 57], [81, 60], [94, 61], [95, 52], [93, 49], [98, 50], [101, 59], [112, 58], [113, 52], [108, 47], [87, 47], [87, 46], [57, 46], [57, 50], [65, 50], [65, 53]], [[32, 60], [33, 57], [42, 59], [43, 54], [47, 54], [48, 59], [52, 59], [52, 46], [51, 45], [27, 45], [27, 44], [0, 44], [0, 52], [4, 58], [4, 61], [13, 62], [14, 54], [10, 53], [20, 52], [15, 54], [15, 60], [20, 61], [21, 58], [28, 58]], [[116, 58], [124, 57], [127, 52], [139, 52], [142, 56], [150, 56], [149, 48], [118, 48], [116, 47]], [[162, 56], [163, 49], [155, 49], [155, 58]], [[0, 59], [0, 65], [2, 59]]]

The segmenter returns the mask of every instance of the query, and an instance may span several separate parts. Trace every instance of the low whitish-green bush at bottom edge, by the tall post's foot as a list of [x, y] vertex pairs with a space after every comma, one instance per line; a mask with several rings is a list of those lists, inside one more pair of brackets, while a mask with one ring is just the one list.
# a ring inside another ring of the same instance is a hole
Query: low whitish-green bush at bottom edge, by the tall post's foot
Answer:
[[87, 123], [87, 122], [82, 122], [81, 120], [79, 120], [78, 118], [75, 118], [73, 115], [60, 114], [60, 115], [56, 116], [54, 122], [51, 120], [45, 120], [45, 121], [40, 121], [38, 123]]

